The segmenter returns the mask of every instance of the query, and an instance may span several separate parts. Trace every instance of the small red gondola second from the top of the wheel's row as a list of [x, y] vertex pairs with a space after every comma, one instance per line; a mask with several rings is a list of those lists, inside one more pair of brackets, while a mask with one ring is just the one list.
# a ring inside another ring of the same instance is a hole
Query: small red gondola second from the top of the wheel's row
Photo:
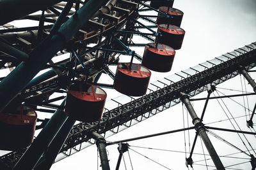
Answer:
[[[183, 12], [176, 9], [176, 8], [169, 8], [167, 6], [160, 6], [159, 11], [162, 11], [164, 13], [168, 13], [170, 15], [170, 18], [165, 17], [157, 17], [156, 24], [170, 24], [180, 27]], [[161, 13], [158, 14], [158, 16], [163, 16]]]

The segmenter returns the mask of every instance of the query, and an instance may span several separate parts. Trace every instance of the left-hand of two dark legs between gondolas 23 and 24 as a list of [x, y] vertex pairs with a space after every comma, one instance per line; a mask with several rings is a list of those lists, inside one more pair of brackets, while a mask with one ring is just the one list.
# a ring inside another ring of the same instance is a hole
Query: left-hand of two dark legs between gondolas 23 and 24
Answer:
[[[64, 104], [65, 101], [63, 101], [61, 106], [64, 106]], [[17, 164], [15, 164], [13, 170], [33, 169], [66, 120], [67, 115], [63, 110], [57, 110], [44, 129], [38, 134], [35, 141], [29, 146]]]

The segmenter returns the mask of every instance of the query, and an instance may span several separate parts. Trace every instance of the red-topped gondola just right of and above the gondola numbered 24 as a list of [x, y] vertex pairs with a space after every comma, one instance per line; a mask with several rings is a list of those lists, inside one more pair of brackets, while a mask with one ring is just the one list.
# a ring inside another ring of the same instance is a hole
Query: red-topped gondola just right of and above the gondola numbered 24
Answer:
[[128, 96], [143, 96], [147, 92], [150, 76], [149, 69], [140, 64], [118, 64], [114, 88]]

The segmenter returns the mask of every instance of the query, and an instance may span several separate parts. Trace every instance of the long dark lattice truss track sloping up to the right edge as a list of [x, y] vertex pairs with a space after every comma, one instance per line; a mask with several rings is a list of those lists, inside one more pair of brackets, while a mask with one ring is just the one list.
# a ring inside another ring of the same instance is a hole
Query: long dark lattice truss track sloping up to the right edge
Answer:
[[[118, 108], [106, 111], [100, 122], [74, 125], [60, 152], [67, 152], [67, 150], [76, 148], [85, 141], [90, 141], [92, 137], [89, 134], [92, 131], [99, 134], [105, 134], [108, 131], [116, 133], [120, 131], [118, 127], [121, 125], [129, 127], [160, 111], [166, 110], [170, 108], [170, 106], [180, 102], [180, 92], [185, 92], [189, 94], [189, 96], [195, 96], [206, 90], [207, 84], [209, 83], [218, 85], [223, 81], [237, 76], [240, 66], [243, 66], [247, 70], [255, 67], [256, 45], [252, 43], [248, 46], [250, 46], [250, 48], [246, 46], [243, 47], [247, 52], [239, 53], [236, 57], [233, 56], [232, 59], [225, 54], [223, 56], [227, 56], [227, 59], [229, 59], [225, 62], [221, 62], [221, 64], [212, 66], [209, 69], [205, 69], [205, 71], [191, 75], [176, 83], [172, 83], [163, 89], [151, 92], [146, 96], [121, 105]], [[233, 52], [231, 52], [231, 54], [232, 53]], [[116, 131], [113, 131], [114, 129]], [[22, 153], [9, 153], [1, 157], [1, 162], [10, 166], [19, 159], [19, 155], [22, 155]]]

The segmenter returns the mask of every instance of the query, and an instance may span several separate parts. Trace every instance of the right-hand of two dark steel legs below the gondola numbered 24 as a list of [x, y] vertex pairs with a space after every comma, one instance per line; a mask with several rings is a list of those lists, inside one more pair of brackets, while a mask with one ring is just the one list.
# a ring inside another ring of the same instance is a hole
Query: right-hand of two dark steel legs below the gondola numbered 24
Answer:
[[66, 122], [61, 127], [58, 134], [56, 134], [55, 138], [51, 142], [51, 144], [47, 148], [47, 152], [45, 152], [44, 157], [42, 157], [38, 164], [35, 167], [35, 170], [44, 170], [50, 169], [54, 160], [56, 159], [58, 153], [61, 150], [61, 147], [65, 143], [65, 140], [68, 137], [69, 132], [71, 131], [73, 125], [75, 124], [76, 120], [73, 118], [68, 117]]

